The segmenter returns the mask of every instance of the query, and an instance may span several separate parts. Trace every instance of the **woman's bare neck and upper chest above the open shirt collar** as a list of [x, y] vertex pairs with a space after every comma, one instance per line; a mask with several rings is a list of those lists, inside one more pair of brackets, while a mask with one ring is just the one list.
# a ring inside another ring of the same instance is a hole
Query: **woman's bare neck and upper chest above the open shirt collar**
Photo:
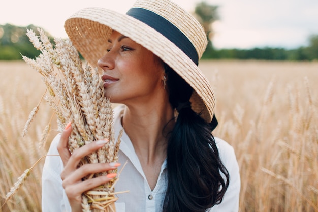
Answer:
[[144, 163], [153, 164], [166, 158], [168, 133], [174, 126], [169, 101], [156, 104], [128, 105], [122, 124], [135, 152]]

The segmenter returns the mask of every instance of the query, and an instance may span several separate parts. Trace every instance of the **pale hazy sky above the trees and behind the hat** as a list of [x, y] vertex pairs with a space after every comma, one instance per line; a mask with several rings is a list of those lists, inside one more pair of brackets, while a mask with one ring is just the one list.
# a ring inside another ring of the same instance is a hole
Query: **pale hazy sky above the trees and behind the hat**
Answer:
[[[173, 0], [193, 12], [200, 0]], [[4, 3], [5, 2], [5, 3]], [[125, 13], [135, 0], [0, 0], [0, 25], [34, 24], [56, 37], [66, 38], [64, 21], [85, 7], [103, 7]], [[318, 35], [318, 0], [206, 0], [218, 6], [212, 27], [214, 47], [293, 49], [308, 45]], [[50, 4], [50, 5], [48, 5]]]

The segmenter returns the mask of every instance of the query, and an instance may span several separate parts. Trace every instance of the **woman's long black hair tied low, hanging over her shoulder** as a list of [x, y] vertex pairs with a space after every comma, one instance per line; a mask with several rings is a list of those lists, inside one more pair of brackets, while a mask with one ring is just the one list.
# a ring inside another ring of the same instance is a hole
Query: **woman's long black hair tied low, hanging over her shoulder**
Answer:
[[[193, 88], [165, 64], [173, 108], [189, 101]], [[191, 108], [179, 111], [167, 147], [168, 187], [163, 212], [200, 212], [219, 204], [229, 185], [209, 123]]]

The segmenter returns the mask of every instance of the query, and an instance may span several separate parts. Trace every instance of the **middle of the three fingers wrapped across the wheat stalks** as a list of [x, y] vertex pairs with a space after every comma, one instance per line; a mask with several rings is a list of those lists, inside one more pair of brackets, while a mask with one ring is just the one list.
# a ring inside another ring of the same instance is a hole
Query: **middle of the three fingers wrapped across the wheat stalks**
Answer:
[[85, 164], [80, 168], [76, 169], [74, 172], [70, 173], [66, 179], [63, 179], [65, 184], [75, 184], [78, 181], [82, 181], [82, 178], [89, 176], [91, 174], [103, 173], [109, 170], [114, 170], [120, 163], [95, 163], [95, 164]]

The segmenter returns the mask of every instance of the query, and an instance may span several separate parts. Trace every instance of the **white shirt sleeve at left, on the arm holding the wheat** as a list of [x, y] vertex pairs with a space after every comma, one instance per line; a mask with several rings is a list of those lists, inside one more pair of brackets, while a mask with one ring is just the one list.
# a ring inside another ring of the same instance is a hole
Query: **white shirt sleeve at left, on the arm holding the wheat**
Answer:
[[42, 170], [42, 211], [66, 212], [71, 207], [62, 187], [60, 174], [63, 163], [57, 152], [60, 135], [57, 135], [49, 148]]

